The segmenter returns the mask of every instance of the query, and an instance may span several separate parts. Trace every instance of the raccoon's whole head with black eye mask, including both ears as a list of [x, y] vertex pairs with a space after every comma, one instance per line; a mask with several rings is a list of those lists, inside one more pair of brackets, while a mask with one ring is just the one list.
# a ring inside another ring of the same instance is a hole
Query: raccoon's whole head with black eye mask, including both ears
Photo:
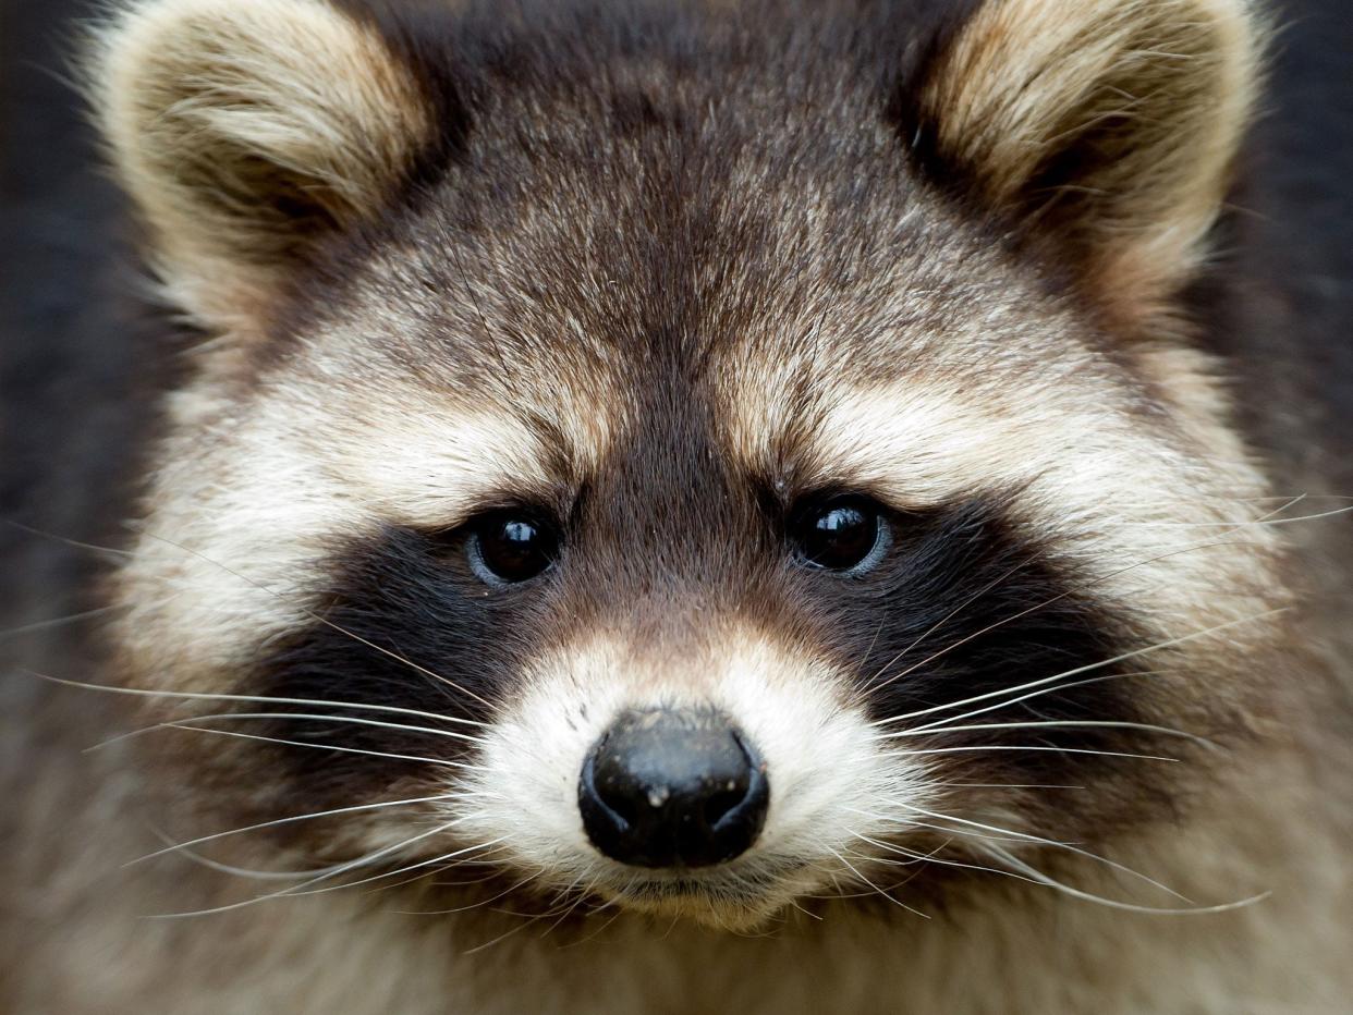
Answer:
[[101, 34], [210, 336], [116, 639], [210, 807], [342, 812], [269, 847], [737, 927], [1040, 880], [1252, 725], [1279, 548], [1174, 307], [1241, 5], [773, 14]]

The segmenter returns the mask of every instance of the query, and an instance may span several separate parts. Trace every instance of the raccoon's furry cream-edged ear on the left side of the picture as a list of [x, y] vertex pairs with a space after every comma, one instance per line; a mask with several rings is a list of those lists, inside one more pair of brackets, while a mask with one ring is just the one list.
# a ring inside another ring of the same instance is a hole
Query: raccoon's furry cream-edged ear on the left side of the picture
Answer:
[[369, 217], [433, 135], [409, 65], [323, 0], [134, 1], [89, 81], [157, 268], [207, 318]]

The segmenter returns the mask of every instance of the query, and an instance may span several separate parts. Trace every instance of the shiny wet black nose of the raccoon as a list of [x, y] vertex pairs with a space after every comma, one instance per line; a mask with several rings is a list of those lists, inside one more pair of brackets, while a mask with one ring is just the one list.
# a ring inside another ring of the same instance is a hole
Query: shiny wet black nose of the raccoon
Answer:
[[713, 712], [628, 712], [597, 742], [578, 786], [593, 846], [640, 867], [702, 867], [756, 840], [764, 766]]

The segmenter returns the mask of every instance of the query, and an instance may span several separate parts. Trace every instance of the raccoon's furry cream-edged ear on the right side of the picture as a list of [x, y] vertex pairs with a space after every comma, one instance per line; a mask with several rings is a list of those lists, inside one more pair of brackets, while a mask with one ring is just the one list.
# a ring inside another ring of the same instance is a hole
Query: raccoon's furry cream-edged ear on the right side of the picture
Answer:
[[1204, 254], [1258, 38], [1243, 0], [984, 0], [923, 66], [912, 137], [1096, 294], [1160, 300]]

